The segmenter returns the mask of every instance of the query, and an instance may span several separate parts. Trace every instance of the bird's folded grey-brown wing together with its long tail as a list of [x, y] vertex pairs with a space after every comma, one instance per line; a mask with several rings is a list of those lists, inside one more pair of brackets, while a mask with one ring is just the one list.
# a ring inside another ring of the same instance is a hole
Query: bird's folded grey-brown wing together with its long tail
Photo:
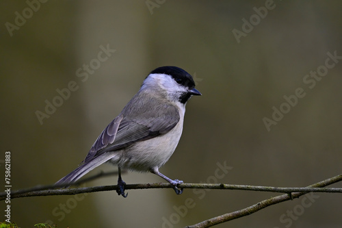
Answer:
[[[129, 147], [134, 142], [166, 134], [174, 128], [180, 119], [177, 108], [170, 104], [157, 104], [140, 105], [139, 110], [126, 110], [127, 112], [122, 110], [122, 113], [98, 136], [82, 164], [56, 184], [77, 181], [115, 155], [115, 153], [106, 153], [108, 151]], [[152, 110], [151, 107], [156, 108]]]

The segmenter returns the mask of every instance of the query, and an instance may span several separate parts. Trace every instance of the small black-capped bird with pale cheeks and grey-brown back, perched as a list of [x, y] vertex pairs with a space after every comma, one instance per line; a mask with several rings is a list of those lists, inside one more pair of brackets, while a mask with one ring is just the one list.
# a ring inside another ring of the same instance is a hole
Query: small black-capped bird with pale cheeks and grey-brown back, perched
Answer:
[[154, 173], [172, 184], [176, 194], [183, 183], [159, 173], [168, 162], [181, 138], [185, 105], [196, 90], [194, 79], [176, 66], [161, 66], [151, 71], [142, 87], [122, 112], [102, 131], [88, 155], [57, 185], [73, 183], [97, 166], [111, 162], [118, 166], [118, 189], [124, 194], [121, 169]]

